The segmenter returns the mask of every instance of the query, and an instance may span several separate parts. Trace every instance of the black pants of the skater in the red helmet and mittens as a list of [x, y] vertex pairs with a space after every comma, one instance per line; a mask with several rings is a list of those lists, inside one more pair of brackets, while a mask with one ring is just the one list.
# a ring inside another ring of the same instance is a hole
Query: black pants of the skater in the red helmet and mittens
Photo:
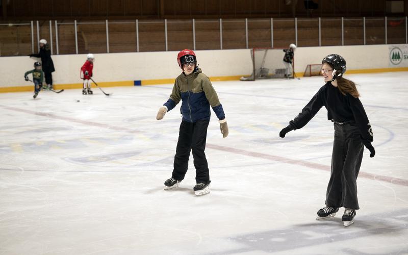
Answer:
[[180, 124], [179, 141], [174, 156], [174, 169], [171, 177], [182, 181], [188, 168], [190, 151], [193, 150], [195, 180], [197, 183], [209, 183], [210, 172], [206, 154], [207, 129], [210, 120], [196, 122], [182, 121]]

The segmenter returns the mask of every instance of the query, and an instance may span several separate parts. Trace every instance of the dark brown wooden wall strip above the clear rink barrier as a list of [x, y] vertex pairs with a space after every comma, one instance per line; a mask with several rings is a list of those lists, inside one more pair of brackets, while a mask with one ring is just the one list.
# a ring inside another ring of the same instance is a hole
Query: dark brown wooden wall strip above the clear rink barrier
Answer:
[[[48, 19], [184, 19], [261, 17], [406, 16], [386, 12], [387, 0], [0, 0], [3, 20]], [[4, 6], [7, 6], [4, 8]]]

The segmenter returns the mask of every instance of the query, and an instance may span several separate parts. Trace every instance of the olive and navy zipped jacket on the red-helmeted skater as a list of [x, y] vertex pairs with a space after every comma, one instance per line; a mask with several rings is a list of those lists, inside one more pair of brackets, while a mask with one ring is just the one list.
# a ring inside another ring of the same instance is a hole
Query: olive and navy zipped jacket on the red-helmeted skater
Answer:
[[201, 68], [195, 68], [189, 75], [183, 72], [175, 79], [173, 91], [164, 106], [170, 111], [180, 100], [183, 101], [180, 111], [185, 121], [209, 120], [210, 106], [219, 120], [225, 118], [217, 92]]

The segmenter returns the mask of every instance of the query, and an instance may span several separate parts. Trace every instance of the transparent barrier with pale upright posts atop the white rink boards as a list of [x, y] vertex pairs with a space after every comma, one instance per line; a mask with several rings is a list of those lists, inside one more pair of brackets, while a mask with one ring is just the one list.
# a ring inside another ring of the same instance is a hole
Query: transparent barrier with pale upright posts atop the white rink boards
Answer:
[[[408, 43], [407, 17], [0, 23], [0, 56]], [[403, 36], [405, 35], [405, 36]], [[36, 40], [34, 39], [36, 37]], [[30, 43], [31, 42], [31, 43]]]

